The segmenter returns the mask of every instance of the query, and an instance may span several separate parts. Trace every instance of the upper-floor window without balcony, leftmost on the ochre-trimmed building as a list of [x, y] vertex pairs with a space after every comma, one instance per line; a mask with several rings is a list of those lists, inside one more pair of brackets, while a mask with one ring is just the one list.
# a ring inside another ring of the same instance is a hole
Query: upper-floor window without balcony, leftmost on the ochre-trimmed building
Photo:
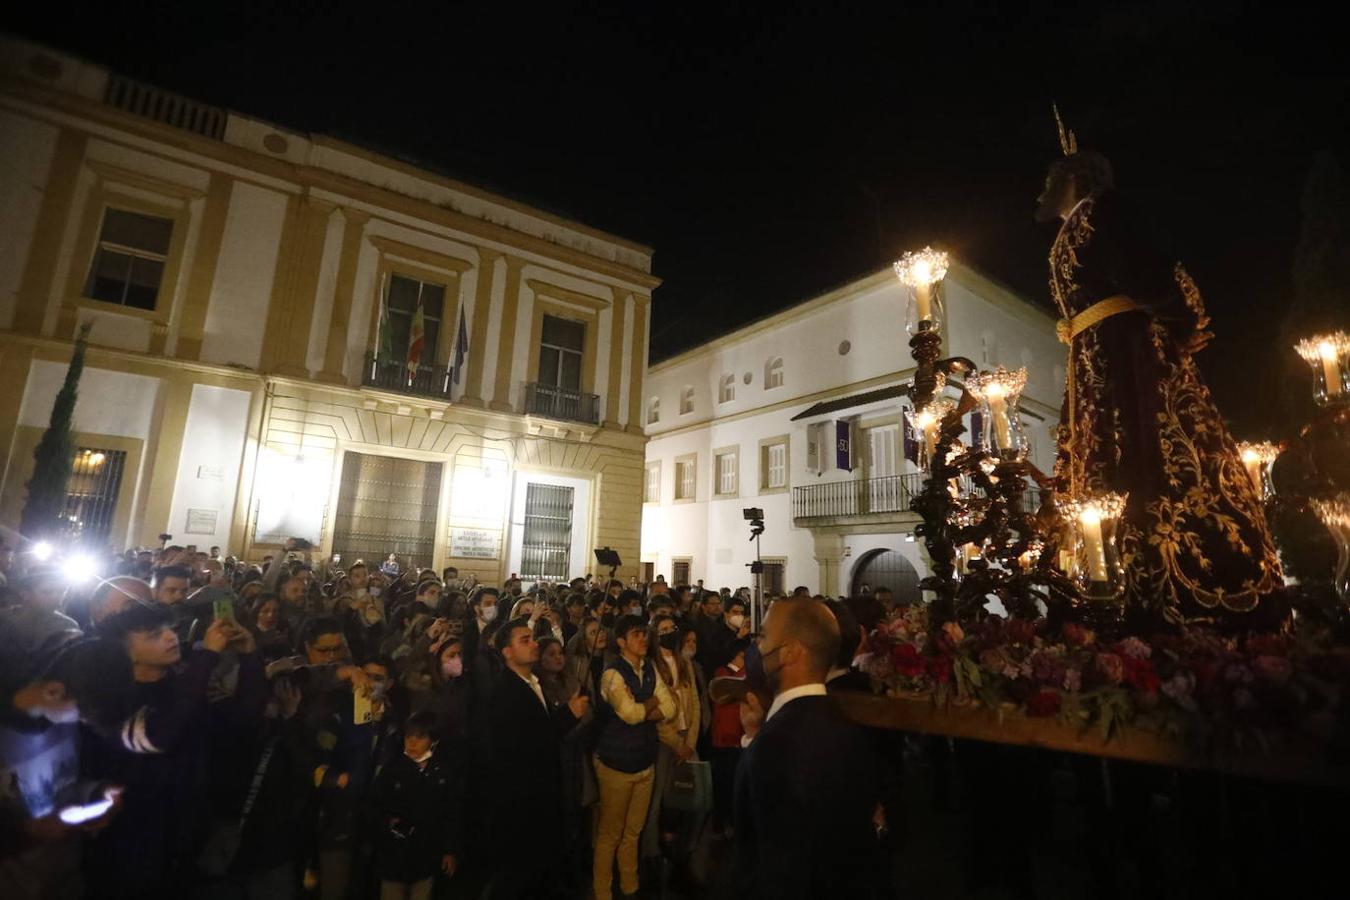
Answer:
[[173, 221], [126, 209], [107, 209], [89, 267], [85, 296], [107, 304], [153, 310], [169, 258]]

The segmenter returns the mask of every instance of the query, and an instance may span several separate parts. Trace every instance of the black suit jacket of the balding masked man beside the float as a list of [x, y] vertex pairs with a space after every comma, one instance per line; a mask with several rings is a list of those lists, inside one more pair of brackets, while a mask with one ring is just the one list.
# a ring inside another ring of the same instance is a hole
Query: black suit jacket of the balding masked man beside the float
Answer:
[[782, 707], [736, 772], [737, 881], [749, 897], [864, 897], [878, 761], [826, 696]]

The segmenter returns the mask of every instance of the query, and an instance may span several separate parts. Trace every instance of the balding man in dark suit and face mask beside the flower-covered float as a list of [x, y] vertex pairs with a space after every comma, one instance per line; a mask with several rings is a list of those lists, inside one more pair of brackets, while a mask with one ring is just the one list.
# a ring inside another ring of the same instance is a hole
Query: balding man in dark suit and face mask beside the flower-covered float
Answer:
[[840, 629], [824, 603], [774, 603], [759, 638], [774, 703], [741, 760], [737, 880], [751, 897], [865, 897], [876, 861], [878, 764], [826, 696]]

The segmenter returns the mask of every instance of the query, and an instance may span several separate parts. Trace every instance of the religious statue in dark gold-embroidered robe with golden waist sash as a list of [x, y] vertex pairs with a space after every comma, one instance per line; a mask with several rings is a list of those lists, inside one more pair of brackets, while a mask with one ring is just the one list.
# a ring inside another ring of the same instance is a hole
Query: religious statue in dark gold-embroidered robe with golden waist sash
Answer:
[[1127, 498], [1127, 610], [1241, 623], [1282, 579], [1261, 499], [1193, 359], [1210, 337], [1200, 291], [1150, 251], [1114, 194], [1110, 162], [1079, 150], [1062, 121], [1060, 143], [1037, 208], [1038, 221], [1062, 220], [1050, 248], [1069, 345], [1057, 490]]

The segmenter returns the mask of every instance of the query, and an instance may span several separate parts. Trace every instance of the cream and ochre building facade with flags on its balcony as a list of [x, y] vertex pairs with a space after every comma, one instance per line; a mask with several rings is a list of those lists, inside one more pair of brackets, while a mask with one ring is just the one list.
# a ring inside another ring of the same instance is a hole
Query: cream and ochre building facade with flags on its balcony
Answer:
[[648, 247], [36, 45], [0, 69], [0, 521], [89, 324], [85, 540], [637, 571]]

